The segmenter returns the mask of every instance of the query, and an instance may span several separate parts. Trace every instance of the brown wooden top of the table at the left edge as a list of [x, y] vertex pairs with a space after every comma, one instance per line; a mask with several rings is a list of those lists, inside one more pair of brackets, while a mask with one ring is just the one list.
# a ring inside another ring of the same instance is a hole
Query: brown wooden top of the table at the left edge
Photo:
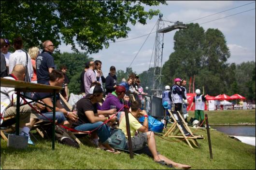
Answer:
[[54, 90], [61, 90], [62, 87], [49, 86], [44, 84], [35, 84], [25, 81], [12, 80], [1, 78], [1, 87], [10, 87], [19, 89], [21, 92], [54, 92]]

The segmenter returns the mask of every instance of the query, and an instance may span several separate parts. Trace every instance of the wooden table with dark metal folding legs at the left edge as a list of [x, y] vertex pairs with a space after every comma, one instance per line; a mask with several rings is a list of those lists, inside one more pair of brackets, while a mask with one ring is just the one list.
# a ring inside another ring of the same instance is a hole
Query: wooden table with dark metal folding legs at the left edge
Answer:
[[[19, 112], [20, 112], [20, 96], [23, 96], [24, 98], [28, 98], [21, 94], [21, 92], [51, 92], [53, 95], [53, 107], [50, 107], [53, 109], [53, 120], [55, 120], [55, 114], [56, 114], [56, 93], [59, 92], [62, 87], [57, 86], [49, 86], [49, 85], [43, 85], [43, 84], [35, 84], [30, 82], [24, 82], [24, 81], [18, 81], [18, 80], [11, 80], [6, 78], [1, 78], [1, 87], [9, 87], [14, 88], [15, 92], [17, 92], [17, 105], [16, 105], [16, 135], [19, 135]], [[31, 98], [28, 98], [31, 100]], [[32, 102], [39, 101], [38, 100], [32, 100]], [[29, 103], [32, 103], [29, 102]], [[27, 104], [24, 104], [27, 105]], [[52, 122], [52, 149], [55, 149], [55, 121]]]

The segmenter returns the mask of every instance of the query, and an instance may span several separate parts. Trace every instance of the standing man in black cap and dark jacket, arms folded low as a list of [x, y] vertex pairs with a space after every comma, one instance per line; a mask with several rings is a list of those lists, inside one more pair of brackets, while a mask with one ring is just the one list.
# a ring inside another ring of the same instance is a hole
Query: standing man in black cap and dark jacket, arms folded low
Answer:
[[105, 88], [106, 88], [106, 95], [108, 93], [112, 93], [114, 92], [117, 83], [116, 83], [116, 75], [115, 75], [115, 67], [111, 66], [110, 67], [110, 73], [109, 75], [106, 77], [106, 84], [105, 84]]

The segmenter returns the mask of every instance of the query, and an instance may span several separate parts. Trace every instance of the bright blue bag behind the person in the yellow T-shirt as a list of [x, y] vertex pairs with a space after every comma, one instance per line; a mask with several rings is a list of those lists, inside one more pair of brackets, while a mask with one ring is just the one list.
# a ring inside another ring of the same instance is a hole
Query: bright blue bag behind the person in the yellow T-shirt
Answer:
[[[144, 117], [141, 117], [139, 121], [143, 123]], [[148, 129], [149, 131], [160, 133], [164, 129], [164, 124], [156, 120], [156, 118], [153, 118], [152, 116], [148, 116]]]

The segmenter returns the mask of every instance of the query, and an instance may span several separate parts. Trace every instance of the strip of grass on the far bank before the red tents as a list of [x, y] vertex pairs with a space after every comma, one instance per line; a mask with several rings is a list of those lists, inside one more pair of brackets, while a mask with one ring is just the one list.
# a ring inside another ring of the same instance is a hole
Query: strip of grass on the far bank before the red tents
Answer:
[[[209, 124], [239, 124], [255, 123], [255, 109], [253, 110], [217, 110], [204, 111], [208, 115]], [[195, 117], [194, 111], [190, 111], [190, 117]]]

